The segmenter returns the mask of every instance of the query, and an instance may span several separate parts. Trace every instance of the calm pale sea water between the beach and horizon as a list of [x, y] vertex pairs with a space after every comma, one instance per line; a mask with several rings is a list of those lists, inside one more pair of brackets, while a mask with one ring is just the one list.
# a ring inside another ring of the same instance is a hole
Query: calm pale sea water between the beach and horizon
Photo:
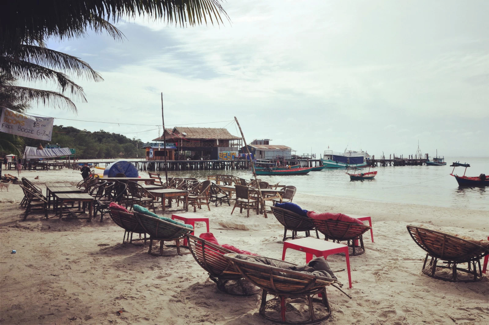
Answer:
[[[467, 176], [489, 174], [489, 158], [445, 158], [446, 166], [402, 166], [376, 167], [378, 174], [371, 181], [350, 181], [345, 169], [324, 169], [297, 176], [263, 176], [268, 183], [280, 182], [297, 187], [298, 193], [341, 196], [379, 202], [421, 204], [428, 206], [489, 210], [489, 187], [459, 188], [450, 172], [454, 161], [470, 163]], [[458, 175], [464, 174], [463, 167], [455, 168]], [[173, 177], [196, 177], [205, 179], [216, 173], [232, 174], [245, 179], [252, 177], [251, 171], [182, 171], [169, 172]], [[163, 172], [164, 174], [164, 172]]]

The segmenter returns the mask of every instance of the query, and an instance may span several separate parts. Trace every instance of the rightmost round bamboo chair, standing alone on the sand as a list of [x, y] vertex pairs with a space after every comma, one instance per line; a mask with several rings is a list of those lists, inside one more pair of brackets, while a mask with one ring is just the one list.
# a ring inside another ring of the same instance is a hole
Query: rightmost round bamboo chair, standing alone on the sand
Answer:
[[[415, 226], [406, 227], [414, 242], [426, 252], [422, 268], [425, 275], [450, 282], [476, 282], [482, 279], [481, 258], [489, 255], [489, 249], [443, 232]], [[429, 268], [426, 269], [428, 257], [431, 257], [431, 260]], [[439, 261], [446, 265], [437, 265]], [[457, 267], [463, 263], [467, 263], [467, 268]], [[452, 271], [451, 278], [436, 274], [443, 269]], [[457, 271], [472, 275], [473, 279], [459, 279]]]

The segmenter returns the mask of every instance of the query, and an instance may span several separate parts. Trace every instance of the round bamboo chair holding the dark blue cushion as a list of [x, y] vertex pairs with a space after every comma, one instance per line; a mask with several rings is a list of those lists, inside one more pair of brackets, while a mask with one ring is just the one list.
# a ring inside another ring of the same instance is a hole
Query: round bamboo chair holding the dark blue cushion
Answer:
[[[271, 209], [278, 222], [284, 226], [284, 241], [287, 239], [295, 239], [295, 237], [297, 237], [297, 232], [305, 232], [306, 237], [310, 237], [311, 231], [315, 231], [316, 238], [319, 238], [319, 234], [317, 233], [317, 229], [314, 227], [311, 218], [304, 217], [300, 214], [279, 207], [271, 207]], [[288, 230], [292, 231], [291, 237], [287, 237]]]

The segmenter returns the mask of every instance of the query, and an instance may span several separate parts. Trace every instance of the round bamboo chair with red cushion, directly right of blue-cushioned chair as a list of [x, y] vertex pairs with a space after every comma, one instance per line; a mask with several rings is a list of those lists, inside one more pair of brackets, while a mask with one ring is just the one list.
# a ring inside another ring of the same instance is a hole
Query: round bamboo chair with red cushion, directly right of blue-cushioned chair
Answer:
[[[316, 229], [325, 235], [325, 240], [331, 239], [337, 243], [346, 241], [347, 245], [352, 248], [352, 253], [348, 253], [350, 256], [365, 253], [363, 234], [370, 230], [369, 226], [338, 220], [311, 220]], [[359, 246], [358, 242], [360, 243]], [[342, 254], [340, 253], [340, 255]]]

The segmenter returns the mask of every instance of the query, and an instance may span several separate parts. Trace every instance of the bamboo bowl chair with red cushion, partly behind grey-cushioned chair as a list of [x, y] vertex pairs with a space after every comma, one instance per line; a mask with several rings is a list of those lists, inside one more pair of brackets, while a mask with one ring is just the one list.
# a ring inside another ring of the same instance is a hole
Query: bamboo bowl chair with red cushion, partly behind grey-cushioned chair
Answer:
[[[186, 236], [192, 256], [194, 256], [200, 267], [207, 271], [209, 279], [216, 283], [220, 291], [233, 296], [252, 296], [255, 294], [248, 292], [243, 284], [241, 273], [224, 258], [224, 254], [234, 253], [233, 251], [189, 233]], [[226, 286], [226, 284], [232, 284], [233, 282], [235, 285]]]

